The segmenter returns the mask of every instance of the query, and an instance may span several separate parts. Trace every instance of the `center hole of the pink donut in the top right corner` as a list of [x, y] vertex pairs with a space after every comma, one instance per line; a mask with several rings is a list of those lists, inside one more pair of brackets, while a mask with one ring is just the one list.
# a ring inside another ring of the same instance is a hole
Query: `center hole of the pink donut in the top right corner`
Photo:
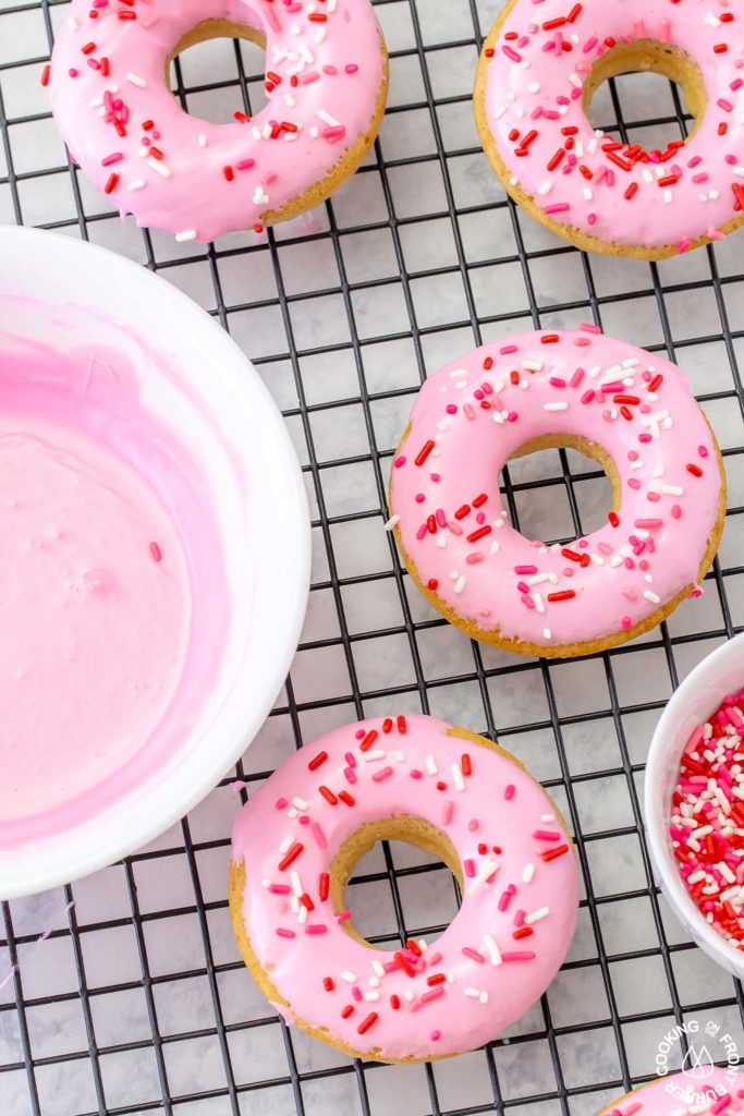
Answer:
[[[680, 112], [686, 121], [693, 119], [686, 138], [692, 137], [705, 113], [707, 95], [699, 67], [684, 50], [638, 39], [617, 44], [595, 62], [584, 83], [582, 104], [592, 127], [619, 131], [619, 137], [629, 144], [664, 152], [668, 144], [685, 138]], [[608, 126], [608, 121], [617, 124]]]

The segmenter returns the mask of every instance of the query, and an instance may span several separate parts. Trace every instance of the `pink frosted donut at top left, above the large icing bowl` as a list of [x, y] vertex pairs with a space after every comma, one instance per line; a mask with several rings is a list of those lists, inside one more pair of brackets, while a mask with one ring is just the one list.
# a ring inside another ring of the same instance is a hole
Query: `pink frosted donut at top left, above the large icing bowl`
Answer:
[[[144, 228], [182, 241], [260, 231], [323, 201], [377, 135], [387, 52], [369, 0], [73, 0], [67, 11], [42, 77], [55, 119], [94, 185]], [[210, 124], [171, 95], [171, 59], [216, 37], [265, 45], [269, 103], [252, 119]]]

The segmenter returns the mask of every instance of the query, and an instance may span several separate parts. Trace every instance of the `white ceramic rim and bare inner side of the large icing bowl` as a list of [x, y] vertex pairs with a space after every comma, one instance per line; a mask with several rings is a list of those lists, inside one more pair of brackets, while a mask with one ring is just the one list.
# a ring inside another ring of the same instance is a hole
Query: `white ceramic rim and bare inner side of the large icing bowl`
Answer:
[[213, 686], [177, 754], [97, 816], [54, 838], [0, 849], [0, 898], [69, 882], [134, 852], [225, 776], [281, 690], [310, 570], [307, 500], [284, 423], [255, 369], [207, 314], [145, 268], [102, 248], [0, 227], [0, 298], [8, 295], [89, 308], [147, 338], [177, 367], [180, 395], [172, 381], [148, 368], [143, 401], [199, 448], [231, 617]]

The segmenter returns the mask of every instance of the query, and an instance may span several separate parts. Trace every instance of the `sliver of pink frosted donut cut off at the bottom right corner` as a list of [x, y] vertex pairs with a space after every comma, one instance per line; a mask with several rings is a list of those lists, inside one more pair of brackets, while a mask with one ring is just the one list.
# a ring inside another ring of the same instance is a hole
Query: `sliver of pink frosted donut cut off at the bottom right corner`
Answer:
[[[690, 1049], [699, 1048], [702, 1041], [705, 1041], [706, 1048], [711, 1048], [716, 1061], [728, 1058], [724, 1036], [716, 1038], [713, 1035], [703, 1039], [702, 1032], [699, 1037], [693, 1031], [688, 1032]], [[738, 1054], [731, 1039], [729, 1048], [736, 1059], [733, 1065], [721, 1067], [703, 1061], [697, 1071], [690, 1069], [687, 1072], [657, 1077], [654, 1081], [626, 1093], [625, 1097], [608, 1105], [599, 1116], [718, 1116], [719, 1113], [734, 1116], [735, 1113], [742, 1113], [744, 1078], [740, 1074]], [[682, 1055], [682, 1049], [679, 1054]]]

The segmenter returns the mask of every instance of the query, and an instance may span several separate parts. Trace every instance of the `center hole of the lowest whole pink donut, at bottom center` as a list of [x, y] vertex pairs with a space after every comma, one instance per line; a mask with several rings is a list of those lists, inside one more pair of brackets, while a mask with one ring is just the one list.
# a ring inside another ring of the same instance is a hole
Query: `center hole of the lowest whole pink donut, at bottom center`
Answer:
[[351, 914], [342, 923], [346, 932], [395, 951], [412, 936], [431, 944], [444, 933], [457, 910], [462, 867], [446, 834], [400, 816], [355, 830], [334, 858], [330, 877], [334, 910]]

